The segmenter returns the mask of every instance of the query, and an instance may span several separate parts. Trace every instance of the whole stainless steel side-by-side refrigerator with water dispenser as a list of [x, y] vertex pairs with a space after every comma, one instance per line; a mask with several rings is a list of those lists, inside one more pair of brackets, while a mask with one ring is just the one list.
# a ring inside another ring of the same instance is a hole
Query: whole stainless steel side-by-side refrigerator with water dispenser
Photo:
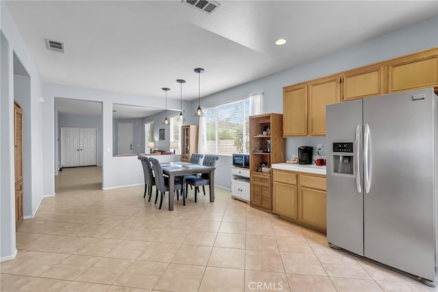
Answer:
[[326, 106], [327, 241], [435, 286], [433, 88]]

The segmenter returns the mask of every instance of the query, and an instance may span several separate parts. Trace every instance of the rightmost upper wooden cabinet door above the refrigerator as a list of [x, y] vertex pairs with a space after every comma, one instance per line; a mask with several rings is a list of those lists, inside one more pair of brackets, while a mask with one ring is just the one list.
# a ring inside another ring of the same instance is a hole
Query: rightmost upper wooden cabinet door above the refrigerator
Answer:
[[388, 67], [389, 93], [437, 86], [437, 55], [438, 50], [427, 51], [391, 62]]

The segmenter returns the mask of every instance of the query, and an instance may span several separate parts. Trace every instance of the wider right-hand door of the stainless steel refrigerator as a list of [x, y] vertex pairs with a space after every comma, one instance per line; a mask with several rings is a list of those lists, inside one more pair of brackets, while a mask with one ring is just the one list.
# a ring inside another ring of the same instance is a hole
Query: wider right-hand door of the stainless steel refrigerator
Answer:
[[[435, 279], [435, 107], [433, 89], [363, 99], [365, 256], [428, 280]], [[365, 145], [364, 137], [364, 152]]]

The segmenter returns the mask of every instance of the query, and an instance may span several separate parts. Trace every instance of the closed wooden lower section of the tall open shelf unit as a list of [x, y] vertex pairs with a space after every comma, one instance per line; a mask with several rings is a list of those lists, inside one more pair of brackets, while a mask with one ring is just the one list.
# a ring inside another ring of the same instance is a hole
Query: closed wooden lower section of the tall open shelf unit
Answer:
[[272, 213], [270, 175], [251, 172], [251, 206]]

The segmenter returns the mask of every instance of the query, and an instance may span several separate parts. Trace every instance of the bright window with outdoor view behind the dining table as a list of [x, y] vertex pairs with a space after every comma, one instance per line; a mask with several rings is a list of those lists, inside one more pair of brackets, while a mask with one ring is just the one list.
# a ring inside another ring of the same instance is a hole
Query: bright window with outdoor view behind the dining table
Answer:
[[205, 152], [220, 155], [249, 153], [249, 116], [259, 114], [260, 107], [261, 94], [257, 94], [206, 108]]

